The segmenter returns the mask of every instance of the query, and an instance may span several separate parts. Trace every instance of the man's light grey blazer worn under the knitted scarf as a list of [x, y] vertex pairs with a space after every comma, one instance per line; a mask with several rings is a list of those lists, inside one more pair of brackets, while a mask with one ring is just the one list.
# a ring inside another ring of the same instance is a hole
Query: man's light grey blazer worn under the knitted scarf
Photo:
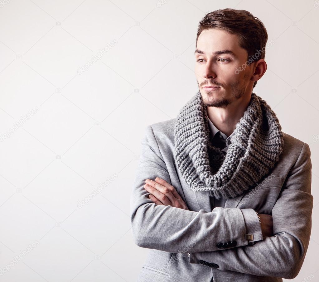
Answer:
[[[308, 144], [284, 133], [283, 153], [269, 180], [212, 210], [208, 193], [190, 189], [176, 168], [175, 121], [147, 126], [142, 140], [130, 217], [135, 243], [151, 250], [137, 280], [273, 282], [296, 277], [311, 232]], [[153, 203], [144, 184], [156, 177], [174, 186], [189, 210]], [[243, 209], [272, 215], [274, 236], [253, 244], [245, 240]], [[229, 241], [236, 241], [236, 246], [217, 247]]]

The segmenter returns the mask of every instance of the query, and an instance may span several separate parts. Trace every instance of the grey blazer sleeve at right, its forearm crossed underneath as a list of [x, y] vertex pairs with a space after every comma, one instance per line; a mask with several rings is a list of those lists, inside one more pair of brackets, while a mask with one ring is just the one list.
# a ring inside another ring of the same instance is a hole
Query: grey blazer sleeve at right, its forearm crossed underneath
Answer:
[[221, 271], [295, 278], [310, 240], [313, 208], [311, 167], [309, 145], [304, 143], [272, 209], [274, 236], [264, 237], [253, 246], [190, 253], [189, 263], [208, 262], [218, 265]]

